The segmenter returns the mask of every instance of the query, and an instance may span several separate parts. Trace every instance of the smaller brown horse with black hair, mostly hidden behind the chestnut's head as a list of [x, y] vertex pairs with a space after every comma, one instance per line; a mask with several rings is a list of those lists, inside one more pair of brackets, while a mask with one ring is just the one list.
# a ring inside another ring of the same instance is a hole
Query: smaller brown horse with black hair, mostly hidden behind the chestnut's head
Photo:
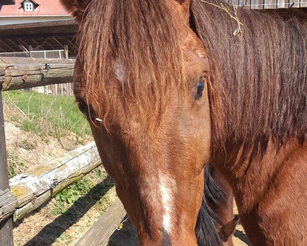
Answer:
[[[232, 234], [237, 222], [238, 216], [233, 217], [231, 187], [220, 172], [208, 164], [205, 167], [202, 207], [196, 223], [196, 237], [199, 245], [211, 245], [209, 242], [212, 241], [215, 241], [215, 245], [233, 245]], [[219, 238], [213, 234], [214, 229], [218, 231]]]

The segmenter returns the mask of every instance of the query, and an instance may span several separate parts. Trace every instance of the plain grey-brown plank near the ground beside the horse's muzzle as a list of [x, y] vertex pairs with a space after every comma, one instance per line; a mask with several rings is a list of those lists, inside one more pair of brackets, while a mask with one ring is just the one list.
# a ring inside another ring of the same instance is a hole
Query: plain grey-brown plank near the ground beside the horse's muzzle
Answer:
[[99, 218], [94, 226], [75, 244], [75, 246], [103, 245], [115, 232], [115, 225], [125, 217], [126, 211], [117, 198], [111, 207]]

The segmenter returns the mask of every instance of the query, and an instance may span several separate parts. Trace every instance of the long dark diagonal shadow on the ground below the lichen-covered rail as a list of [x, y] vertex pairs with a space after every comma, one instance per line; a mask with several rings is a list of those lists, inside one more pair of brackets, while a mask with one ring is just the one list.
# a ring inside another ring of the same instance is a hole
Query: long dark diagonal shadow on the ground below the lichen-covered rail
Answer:
[[[68, 230], [73, 224], [77, 223], [113, 186], [114, 182], [109, 177], [103, 179], [86, 196], [80, 197], [67, 212], [49, 223], [24, 246], [50, 246], [65, 230]], [[46, 235], [48, 235], [48, 238], [46, 238]]]

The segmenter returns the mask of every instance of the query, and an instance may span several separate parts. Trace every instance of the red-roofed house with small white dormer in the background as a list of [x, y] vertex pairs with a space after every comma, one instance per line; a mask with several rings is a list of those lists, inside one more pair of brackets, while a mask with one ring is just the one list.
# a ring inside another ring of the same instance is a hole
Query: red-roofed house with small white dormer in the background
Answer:
[[73, 17], [59, 0], [15, 0], [0, 8], [0, 25], [69, 20]]

